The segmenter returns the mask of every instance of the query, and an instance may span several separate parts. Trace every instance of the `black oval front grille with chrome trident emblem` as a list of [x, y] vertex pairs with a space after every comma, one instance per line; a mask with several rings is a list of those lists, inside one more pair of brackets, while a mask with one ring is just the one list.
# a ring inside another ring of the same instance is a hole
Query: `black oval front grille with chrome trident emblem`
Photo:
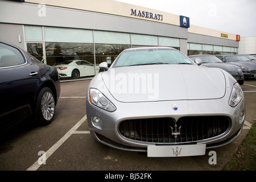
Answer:
[[203, 116], [131, 119], [119, 124], [119, 133], [128, 139], [151, 143], [183, 143], [224, 134], [230, 127], [228, 117]]

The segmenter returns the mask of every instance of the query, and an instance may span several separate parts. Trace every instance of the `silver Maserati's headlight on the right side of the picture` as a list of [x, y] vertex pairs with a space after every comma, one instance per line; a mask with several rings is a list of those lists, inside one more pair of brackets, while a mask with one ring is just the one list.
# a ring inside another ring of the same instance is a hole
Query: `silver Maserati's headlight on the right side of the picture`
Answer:
[[232, 107], [236, 107], [238, 103], [243, 98], [243, 92], [241, 89], [241, 86], [236, 82], [236, 84], [233, 85], [232, 92], [229, 97], [229, 105]]

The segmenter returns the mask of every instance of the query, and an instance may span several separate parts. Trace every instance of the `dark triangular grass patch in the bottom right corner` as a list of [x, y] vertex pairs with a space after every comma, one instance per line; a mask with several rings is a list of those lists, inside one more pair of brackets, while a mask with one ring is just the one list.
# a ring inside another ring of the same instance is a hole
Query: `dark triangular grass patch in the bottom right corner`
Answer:
[[256, 122], [224, 171], [256, 171]]

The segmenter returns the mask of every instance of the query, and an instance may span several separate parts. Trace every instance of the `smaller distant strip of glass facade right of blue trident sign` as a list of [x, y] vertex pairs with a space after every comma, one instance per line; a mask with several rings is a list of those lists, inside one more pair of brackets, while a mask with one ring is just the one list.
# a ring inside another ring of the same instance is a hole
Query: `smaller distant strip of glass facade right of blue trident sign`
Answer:
[[236, 47], [225, 47], [225, 46], [214, 46], [208, 44], [195, 44], [188, 43], [188, 56], [189, 55], [237, 55], [238, 48]]

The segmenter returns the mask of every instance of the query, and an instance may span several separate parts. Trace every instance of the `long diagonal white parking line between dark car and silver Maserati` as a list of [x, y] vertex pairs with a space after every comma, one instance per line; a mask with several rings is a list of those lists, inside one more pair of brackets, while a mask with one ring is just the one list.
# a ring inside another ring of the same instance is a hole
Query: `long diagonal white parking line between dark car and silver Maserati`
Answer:
[[[86, 120], [86, 118], [87, 117], [85, 114], [85, 116], [79, 122], [77, 122], [76, 125], [72, 127], [72, 129], [68, 131], [68, 133], [66, 133], [59, 141], [57, 141], [55, 144], [53, 144], [51, 148], [49, 148], [49, 150], [45, 153], [46, 154], [45, 161], [49, 158], [49, 156], [51, 156], [57, 150], [57, 148], [61, 146], [61, 144], [65, 142], [65, 140], [67, 140], [72, 134], [76, 133], [76, 130], [79, 128], [79, 126], [82, 125], [82, 123]], [[27, 169], [27, 171], [36, 171], [41, 165], [42, 163], [39, 164], [37, 160], [32, 166], [30, 166]]]

